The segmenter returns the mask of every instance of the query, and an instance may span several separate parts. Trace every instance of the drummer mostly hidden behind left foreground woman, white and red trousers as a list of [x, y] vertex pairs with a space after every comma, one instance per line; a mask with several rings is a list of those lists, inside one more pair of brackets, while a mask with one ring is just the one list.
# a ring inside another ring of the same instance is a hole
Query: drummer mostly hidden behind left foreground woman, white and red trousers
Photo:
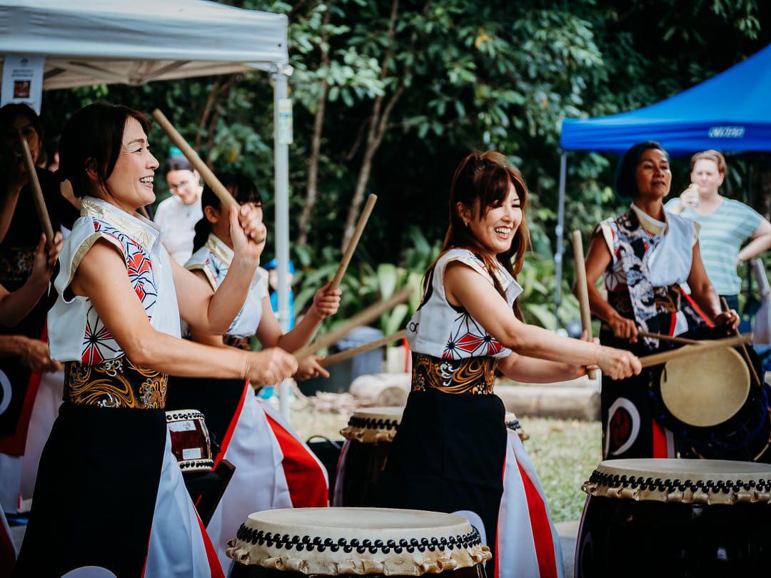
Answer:
[[[252, 207], [261, 217], [262, 200], [251, 180], [238, 174], [224, 174], [221, 182], [239, 204]], [[228, 210], [209, 187], [204, 187], [201, 204], [204, 218], [195, 227], [194, 254], [185, 267], [216, 291], [231, 267], [234, 242]], [[248, 351], [251, 337], [256, 335], [265, 348], [296, 351], [310, 341], [324, 318], [337, 313], [341, 294], [339, 289], [331, 290], [329, 284], [319, 289], [302, 320], [284, 334], [258, 271], [252, 278], [244, 306], [224, 334], [211, 335], [193, 329], [191, 337], [220, 348], [232, 346]], [[301, 361], [294, 377], [329, 377], [318, 359], [311, 356]], [[172, 378], [167, 407], [196, 408], [203, 412], [207, 426], [217, 433], [221, 446], [215, 464], [227, 459], [236, 466], [207, 525], [217, 556], [227, 572], [231, 560], [225, 556], [225, 547], [244, 521], [244, 512], [328, 506], [327, 472], [281, 413], [255, 395], [253, 386], [262, 385], [261, 382], [208, 379], [190, 384], [185, 381]]]

